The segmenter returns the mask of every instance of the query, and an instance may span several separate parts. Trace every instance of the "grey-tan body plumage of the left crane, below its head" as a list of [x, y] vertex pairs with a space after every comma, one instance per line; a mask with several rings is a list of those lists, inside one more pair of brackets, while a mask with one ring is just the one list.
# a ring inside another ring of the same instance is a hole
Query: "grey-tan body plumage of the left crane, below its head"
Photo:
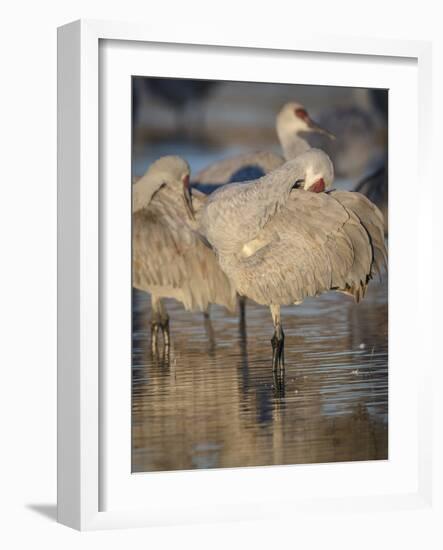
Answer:
[[[203, 199], [196, 197], [199, 204]], [[233, 285], [216, 257], [186, 225], [184, 201], [177, 189], [164, 186], [148, 207], [133, 214], [133, 284], [153, 296], [175, 298], [193, 311], [210, 303], [234, 311]]]

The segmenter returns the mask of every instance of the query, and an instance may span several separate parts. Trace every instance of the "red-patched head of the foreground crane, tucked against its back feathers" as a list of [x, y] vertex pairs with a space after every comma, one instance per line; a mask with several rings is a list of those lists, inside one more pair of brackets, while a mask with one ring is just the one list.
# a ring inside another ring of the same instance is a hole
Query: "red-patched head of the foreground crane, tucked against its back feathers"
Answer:
[[310, 149], [286, 163], [292, 175], [292, 189], [313, 193], [327, 191], [334, 181], [331, 159], [320, 149]]

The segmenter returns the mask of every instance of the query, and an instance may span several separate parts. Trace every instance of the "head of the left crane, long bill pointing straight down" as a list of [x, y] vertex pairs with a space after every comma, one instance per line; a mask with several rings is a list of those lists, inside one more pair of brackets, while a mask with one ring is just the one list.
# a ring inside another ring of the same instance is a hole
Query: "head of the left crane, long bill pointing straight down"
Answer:
[[150, 166], [146, 175], [155, 178], [161, 186], [166, 185], [179, 192], [183, 196], [188, 215], [194, 219], [189, 182], [190, 171], [189, 164], [184, 159], [168, 155], [156, 160]]

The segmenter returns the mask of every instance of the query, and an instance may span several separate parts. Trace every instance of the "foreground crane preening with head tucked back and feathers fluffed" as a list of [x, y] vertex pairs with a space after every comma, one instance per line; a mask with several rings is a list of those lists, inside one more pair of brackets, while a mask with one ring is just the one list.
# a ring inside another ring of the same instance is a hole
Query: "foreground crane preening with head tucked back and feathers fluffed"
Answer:
[[259, 180], [220, 188], [196, 212], [237, 292], [270, 307], [274, 370], [284, 367], [282, 305], [330, 290], [358, 302], [386, 262], [380, 211], [359, 193], [324, 192], [332, 181], [329, 157], [312, 149]]

